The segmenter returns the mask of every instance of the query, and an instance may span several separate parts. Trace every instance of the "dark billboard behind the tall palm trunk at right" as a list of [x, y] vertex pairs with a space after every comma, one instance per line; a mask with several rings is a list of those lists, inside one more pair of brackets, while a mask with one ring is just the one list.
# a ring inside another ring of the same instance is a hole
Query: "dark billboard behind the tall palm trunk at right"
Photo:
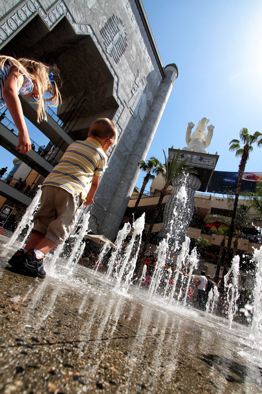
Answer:
[[[214, 171], [209, 182], [208, 193], [228, 194], [236, 192], [238, 172]], [[255, 192], [257, 182], [262, 179], [262, 172], [244, 172], [241, 192]]]

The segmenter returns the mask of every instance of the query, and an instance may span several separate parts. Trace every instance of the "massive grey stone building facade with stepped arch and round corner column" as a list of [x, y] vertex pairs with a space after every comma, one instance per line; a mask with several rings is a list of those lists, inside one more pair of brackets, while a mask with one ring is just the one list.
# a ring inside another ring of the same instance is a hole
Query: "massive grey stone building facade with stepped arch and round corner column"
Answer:
[[[21, 101], [25, 116], [61, 154], [74, 140], [87, 137], [96, 118], [116, 123], [118, 141], [91, 207], [92, 232], [114, 239], [177, 67], [163, 66], [140, 0], [7, 0], [0, 3], [0, 15], [1, 54], [54, 63], [60, 70], [58, 119], [49, 112], [48, 123], [38, 125], [35, 105]], [[15, 138], [0, 125], [2, 146], [48, 173], [50, 164], [44, 168], [35, 152], [15, 151]]]

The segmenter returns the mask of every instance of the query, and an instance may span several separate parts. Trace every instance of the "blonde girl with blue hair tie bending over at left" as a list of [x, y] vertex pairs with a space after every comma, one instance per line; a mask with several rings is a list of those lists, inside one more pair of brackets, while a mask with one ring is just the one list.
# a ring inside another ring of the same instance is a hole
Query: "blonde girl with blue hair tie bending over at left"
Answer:
[[[23, 115], [19, 94], [38, 100], [37, 122], [47, 120], [44, 105], [57, 106], [61, 99], [54, 81], [57, 68], [29, 59], [14, 59], [0, 56], [0, 109], [7, 107], [18, 129], [18, 145], [20, 153], [31, 149], [28, 130]], [[44, 93], [49, 94], [44, 97]]]

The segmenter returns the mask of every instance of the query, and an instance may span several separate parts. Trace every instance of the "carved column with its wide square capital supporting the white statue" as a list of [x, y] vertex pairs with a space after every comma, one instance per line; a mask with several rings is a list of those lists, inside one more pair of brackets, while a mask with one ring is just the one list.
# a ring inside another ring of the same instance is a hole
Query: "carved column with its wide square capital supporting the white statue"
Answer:
[[[171, 158], [178, 149], [169, 149]], [[174, 189], [165, 206], [163, 227], [159, 239], [169, 236], [170, 245], [179, 249], [185, 240], [186, 230], [194, 213], [194, 195], [198, 190], [205, 192], [217, 164], [218, 155], [191, 151], [180, 151], [179, 160], [189, 157], [188, 165], [193, 166], [197, 174], [186, 174], [172, 182]]]

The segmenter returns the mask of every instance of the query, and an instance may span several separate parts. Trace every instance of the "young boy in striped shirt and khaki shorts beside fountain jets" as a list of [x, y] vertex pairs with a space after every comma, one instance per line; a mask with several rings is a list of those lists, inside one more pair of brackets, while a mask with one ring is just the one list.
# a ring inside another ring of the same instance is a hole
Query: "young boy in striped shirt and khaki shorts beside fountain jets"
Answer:
[[16, 271], [45, 278], [44, 256], [69, 236], [83, 203], [94, 203], [106, 153], [116, 139], [116, 125], [100, 118], [92, 123], [85, 141], [75, 141], [67, 148], [41, 186], [41, 205], [25, 249], [8, 261]]

